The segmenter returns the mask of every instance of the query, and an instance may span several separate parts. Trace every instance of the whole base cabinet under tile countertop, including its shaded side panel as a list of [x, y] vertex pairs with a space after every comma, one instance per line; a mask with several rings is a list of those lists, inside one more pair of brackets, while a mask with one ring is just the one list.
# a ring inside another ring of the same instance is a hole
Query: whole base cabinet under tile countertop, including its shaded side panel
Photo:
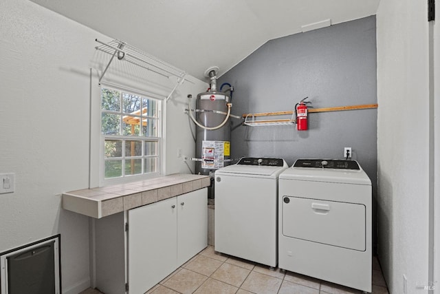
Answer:
[[207, 188], [96, 220], [95, 230], [96, 287], [144, 293], [208, 245]]

